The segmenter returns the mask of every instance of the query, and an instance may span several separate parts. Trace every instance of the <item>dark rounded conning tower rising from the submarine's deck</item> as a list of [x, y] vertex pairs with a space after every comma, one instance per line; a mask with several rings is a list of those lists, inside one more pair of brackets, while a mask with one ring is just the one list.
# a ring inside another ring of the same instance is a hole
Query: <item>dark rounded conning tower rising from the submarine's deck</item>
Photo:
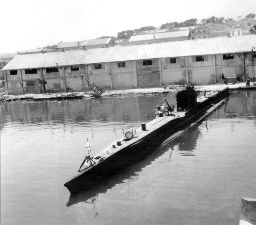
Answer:
[[177, 111], [183, 111], [196, 104], [196, 91], [193, 86], [179, 87], [174, 92], [176, 98]]

